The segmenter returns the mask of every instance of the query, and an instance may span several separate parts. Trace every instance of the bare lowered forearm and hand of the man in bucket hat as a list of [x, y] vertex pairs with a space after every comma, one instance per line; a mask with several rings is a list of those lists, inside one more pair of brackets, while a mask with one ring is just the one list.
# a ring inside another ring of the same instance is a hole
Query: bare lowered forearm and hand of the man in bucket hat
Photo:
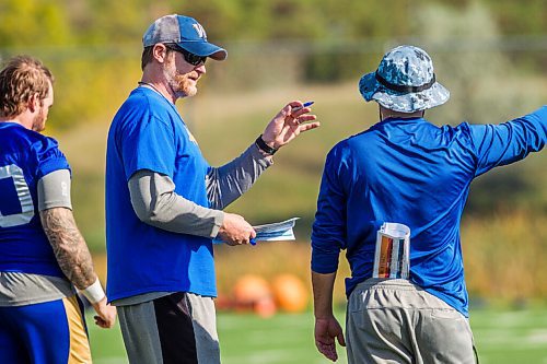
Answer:
[[315, 315], [315, 345], [327, 359], [336, 362], [335, 338], [338, 343], [346, 347], [340, 324], [333, 314], [333, 289], [336, 272], [321, 274], [312, 271], [314, 315]]

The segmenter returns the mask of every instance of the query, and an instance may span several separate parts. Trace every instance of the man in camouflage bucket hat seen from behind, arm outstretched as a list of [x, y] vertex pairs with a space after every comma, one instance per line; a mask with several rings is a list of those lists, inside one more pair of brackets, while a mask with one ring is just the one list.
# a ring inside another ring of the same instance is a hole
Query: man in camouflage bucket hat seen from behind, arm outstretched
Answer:
[[[412, 46], [388, 51], [359, 89], [379, 103], [380, 122], [339, 142], [325, 163], [312, 232], [317, 349], [336, 361], [335, 338], [346, 344], [333, 316], [346, 249], [349, 363], [475, 363], [459, 243], [469, 185], [540, 151], [547, 107], [501, 125], [437, 127], [424, 110], [450, 94]], [[392, 225], [409, 235], [386, 236]]]

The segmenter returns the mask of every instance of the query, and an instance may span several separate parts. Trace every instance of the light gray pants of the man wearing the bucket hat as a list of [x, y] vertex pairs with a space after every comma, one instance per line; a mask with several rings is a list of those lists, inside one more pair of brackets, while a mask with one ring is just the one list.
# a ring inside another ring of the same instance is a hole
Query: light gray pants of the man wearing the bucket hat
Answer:
[[407, 280], [370, 279], [348, 302], [348, 363], [477, 363], [469, 320]]

